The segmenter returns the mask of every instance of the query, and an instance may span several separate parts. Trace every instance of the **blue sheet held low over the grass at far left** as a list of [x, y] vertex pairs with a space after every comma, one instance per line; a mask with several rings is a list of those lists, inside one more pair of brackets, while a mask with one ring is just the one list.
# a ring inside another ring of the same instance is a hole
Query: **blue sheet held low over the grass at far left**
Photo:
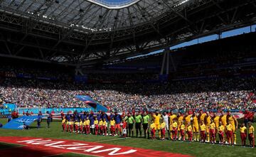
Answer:
[[37, 116], [23, 116], [23, 117], [19, 117], [17, 119], [12, 119], [11, 121], [9, 121], [9, 123], [5, 124], [2, 128], [3, 129], [23, 129], [23, 125], [24, 123], [27, 126], [30, 126], [33, 121], [35, 121], [36, 119], [38, 119]]

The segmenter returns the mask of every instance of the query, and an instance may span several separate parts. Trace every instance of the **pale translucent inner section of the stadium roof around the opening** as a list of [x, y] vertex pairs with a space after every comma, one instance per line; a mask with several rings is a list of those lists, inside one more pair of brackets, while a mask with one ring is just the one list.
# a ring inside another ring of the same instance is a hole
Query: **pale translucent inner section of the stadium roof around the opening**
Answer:
[[6, 11], [89, 31], [113, 31], [153, 21], [188, 0], [3, 0]]

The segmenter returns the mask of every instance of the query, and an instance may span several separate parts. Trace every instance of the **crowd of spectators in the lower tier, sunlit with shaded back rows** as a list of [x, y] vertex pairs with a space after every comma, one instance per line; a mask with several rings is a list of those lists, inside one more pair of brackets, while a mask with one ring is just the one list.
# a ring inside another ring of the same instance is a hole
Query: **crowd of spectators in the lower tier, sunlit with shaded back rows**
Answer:
[[[119, 77], [113, 75], [113, 77]], [[86, 94], [108, 109], [256, 109], [255, 77], [233, 77], [166, 83], [75, 84], [8, 77], [1, 99], [18, 107], [86, 107], [76, 99]]]

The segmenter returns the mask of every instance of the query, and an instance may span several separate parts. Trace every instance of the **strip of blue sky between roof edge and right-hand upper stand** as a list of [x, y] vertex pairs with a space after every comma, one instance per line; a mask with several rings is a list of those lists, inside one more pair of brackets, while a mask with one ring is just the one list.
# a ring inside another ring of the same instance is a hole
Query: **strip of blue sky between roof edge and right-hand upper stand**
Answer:
[[[107, 1], [109, 1], [109, 0], [107, 0]], [[122, 1], [122, 0], [119, 0], [119, 1]], [[223, 32], [222, 35], [221, 35], [221, 38], [228, 38], [230, 36], [238, 36], [242, 33], [250, 33], [250, 32], [255, 32], [255, 31], [256, 31], [256, 25], [253, 25], [251, 28], [250, 28], [250, 26], [247, 26], [247, 27], [244, 27], [244, 28], [238, 28], [238, 29], [234, 29], [232, 31]], [[195, 45], [195, 44], [198, 44], [198, 43], [206, 43], [208, 41], [217, 40], [217, 39], [218, 39], [218, 35], [214, 34], [214, 35], [211, 35], [211, 36], [196, 38], [196, 39], [190, 40], [188, 42], [184, 42], [184, 43], [180, 43], [178, 45], [174, 45], [170, 49], [174, 50], [176, 48], [182, 48], [182, 47], [186, 47], [188, 45]], [[156, 53], [161, 53], [161, 52], [163, 52], [163, 50], [156, 50], [156, 51], [148, 53], [146, 55], [154, 55]], [[139, 58], [139, 57], [143, 57], [143, 56], [146, 56], [146, 55], [137, 55], [137, 56], [134, 56], [132, 58]], [[132, 59], [132, 58], [127, 58], [127, 59]]]

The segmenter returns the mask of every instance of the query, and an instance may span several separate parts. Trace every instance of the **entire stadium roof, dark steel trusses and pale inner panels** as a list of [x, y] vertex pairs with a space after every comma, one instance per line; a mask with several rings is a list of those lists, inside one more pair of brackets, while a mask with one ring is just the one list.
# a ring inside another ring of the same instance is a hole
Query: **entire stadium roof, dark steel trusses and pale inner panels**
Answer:
[[0, 0], [0, 56], [109, 63], [255, 22], [255, 0]]

